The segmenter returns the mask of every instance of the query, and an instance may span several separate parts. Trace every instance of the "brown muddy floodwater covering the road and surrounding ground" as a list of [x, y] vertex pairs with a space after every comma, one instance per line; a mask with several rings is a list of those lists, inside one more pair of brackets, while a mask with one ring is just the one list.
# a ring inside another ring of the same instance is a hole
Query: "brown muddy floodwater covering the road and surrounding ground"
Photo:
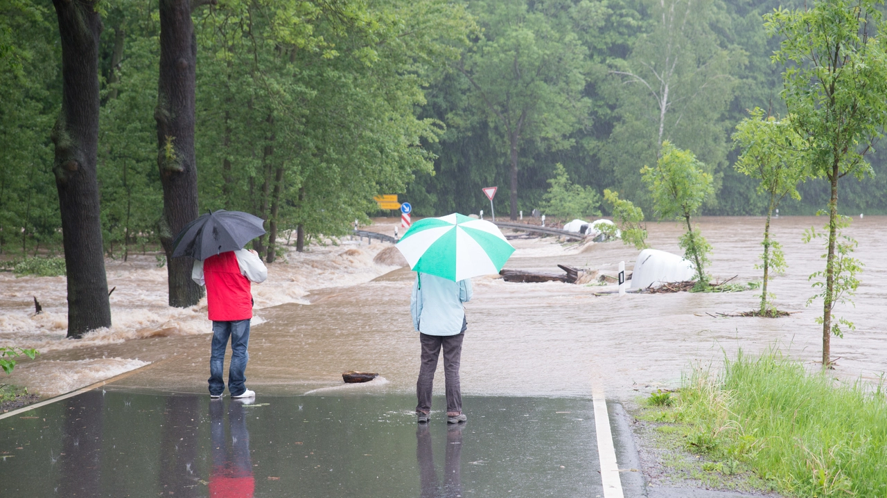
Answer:
[[[610, 397], [630, 399], [678, 385], [681, 372], [717, 366], [724, 354], [732, 356], [739, 348], [757, 353], [773, 345], [815, 369], [821, 301], [811, 307], [805, 302], [815, 292], [807, 277], [824, 266], [824, 248], [805, 245], [802, 234], [825, 222], [814, 217], [773, 220], [773, 235], [784, 247], [789, 268], [773, 279], [771, 290], [781, 309], [797, 312], [786, 318], [715, 317], [753, 309], [756, 291], [597, 296], [603, 287], [475, 278], [475, 299], [467, 303], [463, 392], [588, 396], [593, 376], [599, 376]], [[759, 217], [701, 219], [703, 235], [714, 246], [710, 273], [720, 280], [736, 276], [734, 282], [759, 279], [754, 265], [763, 225]], [[856, 324], [844, 338], [832, 339], [835, 372], [845, 379], [876, 381], [887, 370], [885, 228], [887, 217], [868, 216], [854, 219], [846, 230], [859, 240], [856, 256], [866, 267], [855, 306], [836, 309], [836, 315]], [[648, 229], [650, 245], [679, 253], [676, 223], [651, 223]], [[383, 226], [380, 231], [391, 230]], [[638, 254], [620, 242], [579, 247], [546, 238], [518, 239], [514, 245], [518, 251], [506, 268], [552, 271], [561, 263], [615, 270], [619, 261], [631, 266]], [[271, 265], [269, 283], [254, 287], [258, 309], [247, 385], [269, 394], [412, 392], [419, 368], [409, 314], [413, 274], [374, 264], [373, 255], [384, 246], [355, 241], [316, 247], [307, 254], [291, 253], [288, 264]], [[205, 392], [210, 338], [205, 307], [164, 307], [165, 268], [156, 268], [153, 256], [126, 265], [109, 262], [108, 275], [111, 286], [118, 286], [112, 296], [114, 328], [80, 342], [63, 338], [63, 278], [0, 275], [0, 345], [43, 350], [38, 361], [22, 363], [8, 381], [49, 395], [151, 362], [114, 385]], [[46, 314], [31, 316], [32, 295], [41, 299]], [[346, 386], [341, 383], [345, 370], [378, 371], [381, 378]]]

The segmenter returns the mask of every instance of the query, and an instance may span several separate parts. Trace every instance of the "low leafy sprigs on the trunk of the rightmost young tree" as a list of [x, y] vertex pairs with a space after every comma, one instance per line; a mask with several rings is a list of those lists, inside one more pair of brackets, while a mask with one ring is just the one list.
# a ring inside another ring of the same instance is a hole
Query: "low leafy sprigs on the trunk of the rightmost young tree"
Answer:
[[[858, 275], [862, 272], [862, 267], [865, 266], [860, 260], [852, 257], [852, 253], [856, 250], [856, 246], [859, 245], [859, 243], [857, 243], [855, 239], [841, 234], [841, 230], [848, 228], [850, 222], [851, 218], [847, 216], [840, 216], [837, 220], [834, 252], [835, 259], [834, 263], [831, 265], [833, 272], [831, 275], [833, 281], [832, 288], [829, 289], [827, 285], [828, 281], [824, 280], [828, 277], [825, 269], [814, 271], [807, 278], [808, 280], [814, 281], [812, 284], [814, 289], [820, 290], [819, 293], [807, 300], [807, 306], [810, 306], [813, 301], [821, 299], [825, 302], [825, 306], [828, 308], [829, 316], [831, 316], [834, 311], [836, 304], [853, 303], [852, 297], [860, 287], [860, 278]], [[821, 239], [822, 244], [828, 249], [828, 226], [825, 227], [825, 230], [826, 231], [816, 230], [814, 227], [805, 230], [804, 242], [810, 243], [813, 240]], [[822, 255], [823, 259], [827, 257], [828, 252]], [[821, 316], [816, 318], [816, 323], [823, 323]], [[845, 318], [838, 318], [831, 323], [829, 331], [837, 337], [843, 338], [845, 329], [854, 330], [856, 327], [851, 321]]]

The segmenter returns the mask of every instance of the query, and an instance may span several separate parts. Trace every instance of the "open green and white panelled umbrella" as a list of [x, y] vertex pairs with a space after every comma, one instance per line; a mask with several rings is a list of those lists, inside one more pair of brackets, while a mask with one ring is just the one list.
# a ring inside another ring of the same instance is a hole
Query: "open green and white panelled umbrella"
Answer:
[[458, 213], [413, 223], [396, 247], [413, 270], [455, 282], [498, 273], [514, 253], [496, 225]]

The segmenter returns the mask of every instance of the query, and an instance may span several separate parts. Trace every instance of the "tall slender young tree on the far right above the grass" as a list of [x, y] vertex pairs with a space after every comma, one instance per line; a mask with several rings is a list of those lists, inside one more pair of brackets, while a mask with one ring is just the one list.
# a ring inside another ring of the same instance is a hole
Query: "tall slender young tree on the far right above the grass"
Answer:
[[[855, 243], [838, 232], [839, 180], [872, 173], [865, 156], [883, 135], [887, 122], [887, 51], [881, 36], [887, 28], [880, 0], [828, 0], [812, 8], [778, 9], [765, 17], [773, 35], [783, 36], [773, 60], [786, 65], [782, 97], [793, 128], [809, 143], [813, 176], [828, 180], [828, 253], [822, 284], [822, 366], [830, 359], [829, 338], [841, 334], [844, 319], [831, 323], [831, 311], [845, 292], [859, 284], [859, 261], [847, 256]], [[817, 237], [814, 232], [807, 239]], [[814, 274], [817, 275], [817, 274]]]

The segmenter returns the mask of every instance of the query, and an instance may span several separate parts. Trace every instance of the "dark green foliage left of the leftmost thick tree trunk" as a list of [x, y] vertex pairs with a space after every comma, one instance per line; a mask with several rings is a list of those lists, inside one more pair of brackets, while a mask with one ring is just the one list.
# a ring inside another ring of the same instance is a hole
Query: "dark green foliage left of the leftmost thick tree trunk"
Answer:
[[60, 241], [49, 139], [60, 105], [58, 29], [51, 4], [0, 4], [0, 253]]

